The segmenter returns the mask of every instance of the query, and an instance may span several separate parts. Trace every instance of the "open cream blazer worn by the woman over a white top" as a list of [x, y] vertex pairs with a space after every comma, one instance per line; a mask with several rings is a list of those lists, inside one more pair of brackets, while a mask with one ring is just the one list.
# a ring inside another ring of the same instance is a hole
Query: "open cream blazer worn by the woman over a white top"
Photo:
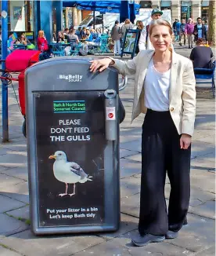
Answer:
[[[144, 79], [153, 57], [154, 50], [142, 50], [132, 60], [112, 59], [122, 75], [135, 74], [134, 102], [132, 109], [132, 121], [139, 114], [146, 113], [147, 108], [144, 102]], [[193, 135], [196, 115], [196, 80], [191, 60], [182, 57], [173, 51], [171, 64], [171, 86], [169, 90], [170, 113], [175, 123], [178, 134], [186, 133]]]

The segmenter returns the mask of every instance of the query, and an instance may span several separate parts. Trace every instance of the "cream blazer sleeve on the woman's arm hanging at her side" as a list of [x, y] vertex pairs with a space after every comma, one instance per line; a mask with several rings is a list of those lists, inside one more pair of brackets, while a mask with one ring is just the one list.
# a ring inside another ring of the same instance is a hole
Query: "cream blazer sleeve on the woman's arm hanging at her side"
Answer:
[[190, 60], [185, 64], [182, 83], [182, 133], [192, 136], [196, 116], [196, 80], [193, 72], [193, 63]]

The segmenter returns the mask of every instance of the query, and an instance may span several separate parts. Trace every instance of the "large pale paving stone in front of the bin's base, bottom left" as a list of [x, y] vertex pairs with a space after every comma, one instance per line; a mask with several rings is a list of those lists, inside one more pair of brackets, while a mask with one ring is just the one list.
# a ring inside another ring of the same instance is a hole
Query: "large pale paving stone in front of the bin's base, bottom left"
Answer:
[[[22, 246], [20, 246], [22, 241]], [[5, 237], [0, 243], [12, 247], [20, 254], [27, 256], [69, 256], [85, 248], [103, 243], [98, 236], [34, 236], [30, 230]]]

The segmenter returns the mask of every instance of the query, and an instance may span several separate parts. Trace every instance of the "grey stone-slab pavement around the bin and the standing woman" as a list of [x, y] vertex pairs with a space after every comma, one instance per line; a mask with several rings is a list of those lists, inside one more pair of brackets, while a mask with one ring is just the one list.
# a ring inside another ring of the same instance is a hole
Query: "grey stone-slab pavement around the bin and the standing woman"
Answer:
[[[189, 49], [176, 49], [188, 57]], [[9, 139], [0, 144], [0, 256], [174, 256], [215, 254], [215, 105], [210, 85], [197, 85], [196, 125], [191, 157], [188, 225], [175, 240], [133, 247], [137, 232], [143, 115], [131, 124], [133, 77], [121, 92], [126, 117], [121, 123], [121, 228], [117, 232], [34, 236], [30, 230], [27, 145], [23, 117], [9, 86]], [[14, 83], [17, 93], [17, 84]], [[2, 110], [1, 113], [2, 114]], [[166, 181], [165, 196], [170, 184]]]

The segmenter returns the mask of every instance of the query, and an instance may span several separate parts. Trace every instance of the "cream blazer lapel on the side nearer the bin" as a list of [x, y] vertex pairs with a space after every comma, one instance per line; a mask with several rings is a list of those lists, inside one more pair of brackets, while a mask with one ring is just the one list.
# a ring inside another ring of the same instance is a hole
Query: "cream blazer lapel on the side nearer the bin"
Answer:
[[140, 63], [139, 77], [138, 77], [138, 82], [137, 82], [138, 86], [137, 86], [137, 93], [136, 93], [137, 101], [139, 101], [139, 96], [140, 96], [140, 93], [142, 92], [142, 87], [143, 87], [143, 82], [144, 82], [144, 79], [146, 76], [146, 71], [149, 66], [149, 61], [153, 57], [153, 53], [154, 53], [154, 51], [151, 50], [148, 54], [146, 54], [146, 56], [144, 55], [143, 59], [141, 60], [141, 63]]

